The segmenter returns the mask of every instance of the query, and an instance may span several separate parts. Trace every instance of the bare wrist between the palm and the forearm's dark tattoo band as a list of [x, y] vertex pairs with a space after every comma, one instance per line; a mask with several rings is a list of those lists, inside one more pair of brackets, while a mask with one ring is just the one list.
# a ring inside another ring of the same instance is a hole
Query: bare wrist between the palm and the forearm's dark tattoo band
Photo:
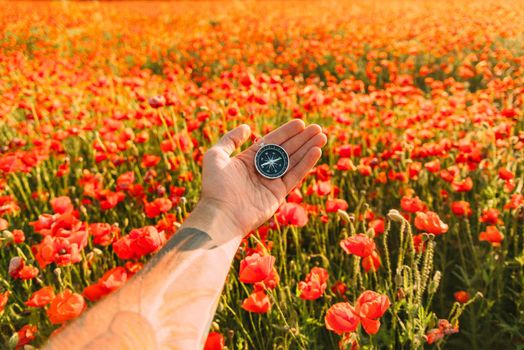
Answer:
[[198, 202], [183, 222], [182, 227], [184, 226], [200, 229], [220, 242], [235, 238], [240, 241], [246, 234], [224, 203], [209, 198], [202, 198]]

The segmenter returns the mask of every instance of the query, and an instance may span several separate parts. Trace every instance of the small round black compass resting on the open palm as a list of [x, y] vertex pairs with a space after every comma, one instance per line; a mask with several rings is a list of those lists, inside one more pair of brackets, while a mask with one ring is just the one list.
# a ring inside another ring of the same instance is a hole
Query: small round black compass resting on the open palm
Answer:
[[257, 151], [255, 167], [265, 178], [277, 179], [286, 173], [289, 167], [289, 156], [278, 145], [265, 145]]

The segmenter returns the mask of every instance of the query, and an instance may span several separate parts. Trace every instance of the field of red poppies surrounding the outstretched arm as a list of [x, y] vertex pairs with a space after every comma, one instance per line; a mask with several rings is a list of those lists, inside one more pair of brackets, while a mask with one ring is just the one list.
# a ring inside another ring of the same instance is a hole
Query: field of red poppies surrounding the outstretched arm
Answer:
[[122, 287], [206, 149], [328, 144], [243, 241], [205, 345], [524, 348], [524, 3], [36, 2], [0, 13], [0, 344]]

